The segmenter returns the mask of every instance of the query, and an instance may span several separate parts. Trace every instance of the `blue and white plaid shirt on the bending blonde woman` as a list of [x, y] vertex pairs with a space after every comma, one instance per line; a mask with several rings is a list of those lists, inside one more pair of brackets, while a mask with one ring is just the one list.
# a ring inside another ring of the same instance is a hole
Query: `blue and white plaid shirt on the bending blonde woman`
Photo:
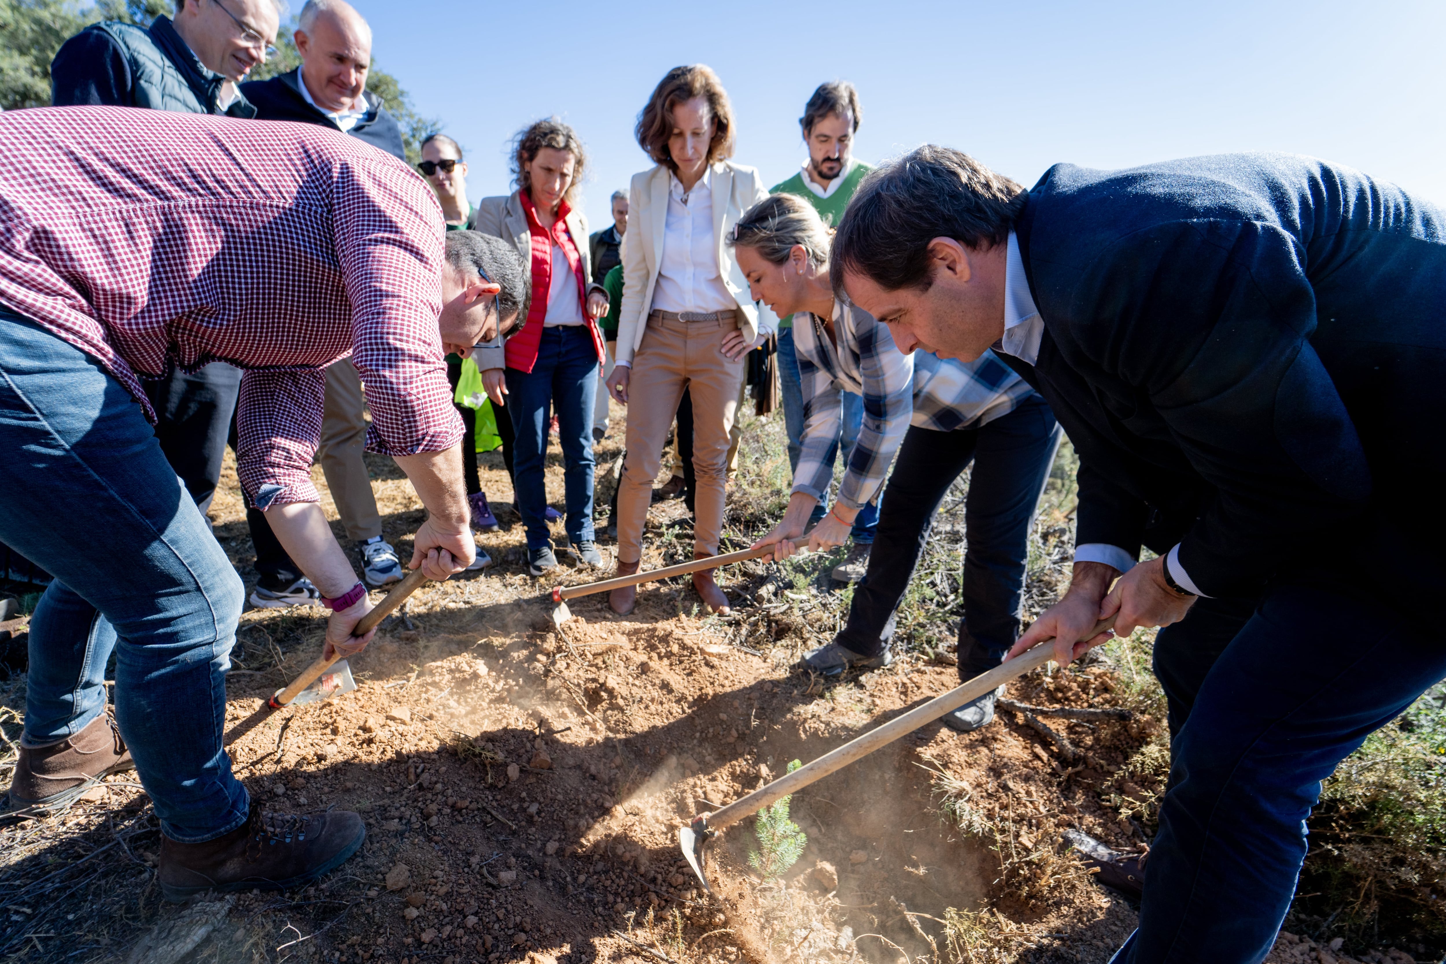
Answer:
[[794, 315], [804, 432], [792, 491], [818, 500], [833, 481], [830, 449], [844, 392], [863, 396], [863, 426], [839, 483], [839, 502], [850, 509], [878, 497], [911, 423], [937, 432], [977, 428], [1008, 415], [1032, 392], [992, 351], [972, 363], [925, 351], [901, 354], [888, 325], [842, 299], [833, 305], [833, 328], [837, 347], [816, 315]]

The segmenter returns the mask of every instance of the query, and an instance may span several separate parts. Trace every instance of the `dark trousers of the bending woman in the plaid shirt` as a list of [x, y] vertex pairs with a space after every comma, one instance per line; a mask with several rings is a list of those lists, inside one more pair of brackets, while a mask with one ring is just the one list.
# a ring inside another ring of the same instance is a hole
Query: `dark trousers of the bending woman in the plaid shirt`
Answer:
[[853, 590], [849, 621], [837, 642], [866, 656], [884, 650], [938, 503], [973, 461], [964, 503], [959, 678], [998, 666], [1019, 636], [1030, 523], [1060, 435], [1054, 413], [1037, 395], [980, 428], [936, 432], [910, 426], [881, 500], [879, 538], [868, 574]]

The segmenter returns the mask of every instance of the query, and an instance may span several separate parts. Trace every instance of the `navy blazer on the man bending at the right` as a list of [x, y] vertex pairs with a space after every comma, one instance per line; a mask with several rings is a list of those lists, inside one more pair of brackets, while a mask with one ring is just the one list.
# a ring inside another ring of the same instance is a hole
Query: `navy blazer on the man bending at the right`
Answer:
[[1077, 541], [1209, 595], [1442, 591], [1446, 217], [1310, 158], [1056, 165], [1015, 224]]

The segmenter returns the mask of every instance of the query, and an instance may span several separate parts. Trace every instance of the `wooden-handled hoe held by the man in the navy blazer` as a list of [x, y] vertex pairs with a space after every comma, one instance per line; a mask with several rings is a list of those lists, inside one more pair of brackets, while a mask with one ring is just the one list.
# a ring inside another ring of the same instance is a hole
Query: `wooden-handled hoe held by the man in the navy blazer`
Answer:
[[[1113, 616], [1100, 620], [1084, 639], [1093, 639], [1105, 630], [1113, 629]], [[1053, 642], [1053, 637], [1040, 640], [1040, 643], [1027, 653], [1017, 656], [1006, 663], [999, 663], [989, 672], [979, 673], [973, 679], [960, 684], [944, 695], [930, 700], [923, 707], [910, 710], [898, 720], [889, 720], [882, 727], [869, 730], [862, 737], [844, 743], [837, 750], [824, 753], [813, 763], [801, 766], [787, 776], [778, 778], [768, 786], [758, 788], [748, 796], [733, 801], [716, 814], [698, 814], [694, 817], [690, 827], [678, 830], [678, 844], [683, 847], [683, 856], [687, 858], [688, 866], [693, 867], [693, 873], [696, 873], [698, 880], [703, 882], [703, 889], [709, 893], [713, 892], [713, 887], [709, 886], [707, 874], [703, 873], [703, 845], [717, 835], [720, 830], [732, 827], [737, 821], [761, 811], [781, 796], [788, 796], [810, 783], [821, 780], [834, 770], [842, 770], [859, 757], [868, 756], [869, 753], [888, 746], [901, 736], [918, 730], [925, 723], [933, 723], [946, 713], [953, 713], [966, 702], [972, 702], [988, 692], [993, 692], [999, 685], [1006, 684], [1017, 676], [1022, 676], [1031, 669], [1043, 666], [1054, 658]]]

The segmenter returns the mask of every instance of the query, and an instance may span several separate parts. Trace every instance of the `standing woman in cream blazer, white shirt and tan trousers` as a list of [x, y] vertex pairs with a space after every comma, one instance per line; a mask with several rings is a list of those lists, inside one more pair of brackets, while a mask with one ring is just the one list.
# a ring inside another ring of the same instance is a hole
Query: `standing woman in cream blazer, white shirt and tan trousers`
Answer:
[[[729, 160], [733, 111], [703, 65], [668, 71], [638, 119], [638, 143], [656, 162], [635, 175], [623, 234], [623, 302], [617, 366], [607, 379], [628, 405], [628, 458], [617, 490], [617, 574], [642, 559], [642, 530], [662, 445], [684, 389], [693, 399], [697, 475], [694, 558], [717, 555], [729, 432], [743, 358], [772, 334], [777, 318], [755, 306], [724, 238], [768, 197], [758, 171]], [[726, 613], [727, 597], [706, 569], [693, 577], [703, 601]], [[636, 590], [613, 590], [610, 606], [632, 611]]]

